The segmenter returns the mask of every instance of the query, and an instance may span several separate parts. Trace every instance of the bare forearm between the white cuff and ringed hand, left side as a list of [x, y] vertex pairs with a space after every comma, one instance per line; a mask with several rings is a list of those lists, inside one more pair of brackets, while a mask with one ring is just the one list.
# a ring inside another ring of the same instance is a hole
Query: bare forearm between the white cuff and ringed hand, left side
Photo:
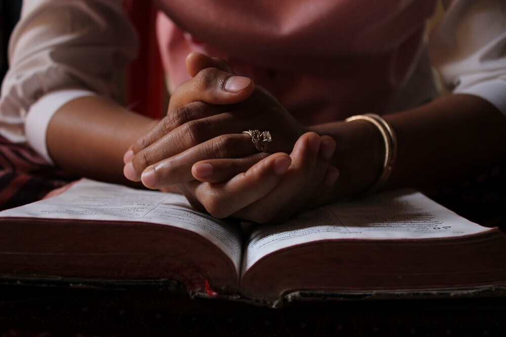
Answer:
[[58, 110], [48, 126], [47, 146], [56, 164], [79, 176], [127, 183], [125, 151], [155, 121], [99, 96], [75, 99]]

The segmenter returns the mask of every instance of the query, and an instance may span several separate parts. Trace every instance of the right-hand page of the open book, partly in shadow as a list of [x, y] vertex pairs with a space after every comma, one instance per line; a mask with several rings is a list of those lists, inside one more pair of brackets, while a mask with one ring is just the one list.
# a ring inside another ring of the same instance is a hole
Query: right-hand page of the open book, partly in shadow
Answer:
[[259, 226], [244, 251], [242, 272], [276, 250], [312, 241], [432, 239], [487, 230], [421, 193], [382, 193], [315, 209], [284, 224]]

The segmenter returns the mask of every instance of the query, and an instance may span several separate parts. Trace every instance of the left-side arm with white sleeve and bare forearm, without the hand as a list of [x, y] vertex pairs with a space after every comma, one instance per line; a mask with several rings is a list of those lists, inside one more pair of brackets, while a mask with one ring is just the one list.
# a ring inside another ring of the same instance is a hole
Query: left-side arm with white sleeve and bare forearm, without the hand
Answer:
[[115, 72], [136, 54], [119, 0], [25, 2], [10, 41], [0, 131], [73, 173], [126, 181], [122, 153], [152, 125], [112, 100]]

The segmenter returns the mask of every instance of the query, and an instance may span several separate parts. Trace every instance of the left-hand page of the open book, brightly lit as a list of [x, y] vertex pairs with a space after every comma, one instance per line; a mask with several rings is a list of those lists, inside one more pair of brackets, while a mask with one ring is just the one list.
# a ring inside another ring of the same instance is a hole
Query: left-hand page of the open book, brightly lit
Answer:
[[227, 254], [239, 271], [241, 234], [232, 226], [193, 209], [181, 194], [137, 190], [82, 179], [60, 195], [5, 210], [0, 217], [136, 221], [171, 225], [198, 233]]

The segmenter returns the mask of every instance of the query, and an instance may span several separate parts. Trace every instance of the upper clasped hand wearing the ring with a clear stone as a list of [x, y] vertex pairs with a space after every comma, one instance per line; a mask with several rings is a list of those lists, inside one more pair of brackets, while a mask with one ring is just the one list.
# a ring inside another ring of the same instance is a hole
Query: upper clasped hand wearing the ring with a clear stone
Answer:
[[163, 188], [194, 180], [191, 167], [197, 161], [242, 158], [225, 168], [223, 177], [231, 178], [267, 156], [242, 134], [247, 130], [271, 133], [268, 153], [291, 152], [305, 132], [302, 125], [265, 90], [253, 89], [252, 82], [244, 86], [244, 77], [239, 78], [244, 88], [231, 92], [227, 83], [237, 76], [221, 70], [227, 67], [190, 54], [187, 68], [194, 77], [177, 88], [167, 115], [125, 154], [126, 178]]

